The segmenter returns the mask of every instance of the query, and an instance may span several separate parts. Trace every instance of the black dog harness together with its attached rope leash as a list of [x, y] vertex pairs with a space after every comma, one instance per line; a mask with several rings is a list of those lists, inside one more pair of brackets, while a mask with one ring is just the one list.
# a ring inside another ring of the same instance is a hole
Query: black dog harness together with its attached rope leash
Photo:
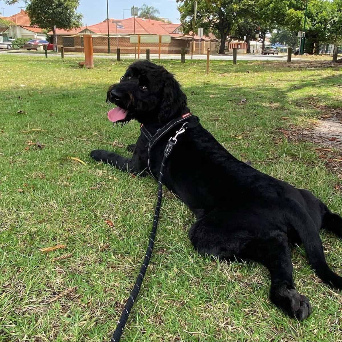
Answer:
[[182, 117], [174, 119], [170, 121], [169, 123], [167, 123], [165, 126], [162, 126], [160, 129], [157, 130], [157, 132], [154, 135], [152, 135], [145, 126], [141, 125], [140, 127], [141, 132], [146, 136], [146, 139], [148, 140], [148, 153], [147, 153], [148, 169], [151, 175], [157, 180], [151, 168], [150, 150], [160, 140], [161, 137], [165, 136], [165, 134], [167, 134], [172, 129], [176, 128], [177, 125], [180, 125], [180, 124], [182, 124], [182, 127], [178, 131], [176, 131], [174, 136], [170, 137], [165, 147], [164, 156], [160, 165], [160, 171], [159, 171], [159, 177], [158, 177], [158, 199], [157, 199], [156, 210], [154, 212], [153, 226], [152, 226], [151, 233], [150, 233], [149, 244], [147, 246], [145, 259], [140, 268], [140, 273], [136, 278], [133, 290], [130, 293], [130, 296], [126, 302], [126, 305], [124, 306], [118, 325], [115, 331], [113, 332], [110, 342], [119, 342], [120, 340], [121, 334], [123, 332], [123, 328], [126, 325], [126, 322], [132, 310], [133, 304], [139, 294], [139, 291], [140, 291], [140, 288], [141, 288], [141, 285], [143, 283], [143, 279], [146, 273], [146, 269], [148, 267], [149, 261], [152, 256], [152, 250], [153, 250], [154, 240], [155, 240], [156, 233], [157, 233], [157, 225], [159, 221], [159, 211], [160, 211], [161, 198], [162, 198], [162, 178], [163, 178], [163, 171], [165, 168], [166, 160], [168, 156], [170, 155], [173, 146], [177, 143], [177, 136], [180, 134], [183, 134], [187, 128], [193, 128], [193, 127], [198, 126], [199, 118], [197, 116], [192, 116], [192, 114], [190, 113], [182, 115]]

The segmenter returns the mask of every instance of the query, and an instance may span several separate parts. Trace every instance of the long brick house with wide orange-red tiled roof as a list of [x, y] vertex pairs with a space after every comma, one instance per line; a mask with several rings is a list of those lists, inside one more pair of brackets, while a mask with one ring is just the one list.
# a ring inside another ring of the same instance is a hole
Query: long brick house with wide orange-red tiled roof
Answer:
[[[117, 24], [119, 25], [117, 28]], [[83, 51], [83, 35], [91, 34], [93, 36], [93, 51], [96, 53], [108, 52], [107, 25], [109, 25], [109, 44], [110, 52], [116, 52], [119, 48], [121, 53], [134, 53], [135, 44], [130, 42], [130, 36], [134, 35], [170, 35], [170, 43], [161, 44], [161, 53], [163, 54], [179, 54], [182, 48], [188, 53], [191, 51], [192, 36], [183, 34], [181, 24], [167, 24], [162, 21], [144, 19], [144, 18], [127, 18], [116, 20], [110, 18], [103, 22], [83, 26], [72, 30], [56, 29], [57, 45], [63, 46], [64, 51]], [[52, 31], [48, 32], [52, 36]], [[207, 48], [212, 52], [215, 51], [217, 39], [214, 37], [201, 38], [200, 52], [205, 53]], [[195, 51], [199, 48], [199, 37], [195, 36]], [[197, 43], [198, 42], [198, 43]], [[150, 53], [158, 53], [158, 43], [141, 43], [140, 53], [146, 53], [146, 49], [150, 49]], [[196, 52], [195, 52], [196, 53]]]

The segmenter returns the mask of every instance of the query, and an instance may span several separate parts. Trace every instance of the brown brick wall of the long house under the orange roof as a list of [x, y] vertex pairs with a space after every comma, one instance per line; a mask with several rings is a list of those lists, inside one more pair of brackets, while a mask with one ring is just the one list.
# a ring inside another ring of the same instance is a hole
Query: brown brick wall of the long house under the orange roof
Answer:
[[[69, 37], [64, 37], [64, 43], [67, 43], [69, 46], [64, 45], [64, 51], [66, 52], [83, 52], [83, 47], [81, 45], [81, 37], [74, 37], [72, 45], [72, 39], [68, 39]], [[71, 38], [71, 37], [70, 37]], [[160, 53], [162, 54], [180, 54], [181, 49], [185, 48], [186, 53], [189, 53], [189, 40], [186, 39], [173, 39], [171, 38], [170, 43], [162, 43], [160, 48]], [[63, 45], [63, 37], [57, 37], [58, 48]], [[134, 53], [134, 44], [130, 42], [129, 37], [109, 37], [110, 44], [110, 52], [116, 53], [116, 48], [120, 49], [121, 53]], [[140, 53], [145, 54], [146, 49], [150, 49], [150, 53], [158, 53], [159, 48], [158, 43], [141, 43], [140, 44]], [[107, 37], [93, 37], [93, 51], [94, 53], [106, 53], [108, 52], [108, 38]], [[138, 44], [136, 43], [136, 53], [138, 52]]]

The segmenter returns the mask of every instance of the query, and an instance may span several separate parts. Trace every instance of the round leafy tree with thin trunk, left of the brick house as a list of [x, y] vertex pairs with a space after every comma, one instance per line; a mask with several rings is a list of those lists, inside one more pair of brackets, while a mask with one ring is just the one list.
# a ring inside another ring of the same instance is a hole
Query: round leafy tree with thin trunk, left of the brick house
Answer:
[[52, 30], [55, 49], [56, 28], [70, 30], [82, 25], [83, 15], [76, 12], [78, 5], [79, 0], [30, 0], [26, 11], [32, 26]]

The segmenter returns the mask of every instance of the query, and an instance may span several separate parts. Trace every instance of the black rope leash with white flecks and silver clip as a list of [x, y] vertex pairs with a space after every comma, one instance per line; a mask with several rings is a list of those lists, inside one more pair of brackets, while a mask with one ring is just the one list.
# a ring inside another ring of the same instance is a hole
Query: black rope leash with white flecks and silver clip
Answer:
[[[184, 121], [183, 119], [182, 120], [177, 120], [177, 123], [180, 123], [180, 122]], [[144, 262], [143, 262], [143, 264], [142, 264], [142, 266], [140, 268], [140, 273], [139, 273], [139, 275], [136, 278], [133, 290], [132, 290], [132, 292], [131, 292], [131, 294], [130, 294], [127, 302], [126, 302], [126, 305], [125, 305], [123, 311], [122, 311], [121, 317], [119, 319], [119, 323], [118, 323], [118, 325], [117, 325], [117, 327], [116, 327], [116, 329], [115, 329], [115, 331], [113, 333], [113, 336], [111, 337], [110, 342], [119, 342], [121, 334], [123, 332], [123, 328], [126, 325], [128, 316], [129, 316], [129, 314], [130, 314], [130, 312], [132, 310], [133, 304], [134, 304], [134, 302], [135, 302], [135, 300], [136, 300], [136, 298], [137, 298], [137, 296], [139, 294], [141, 285], [143, 283], [143, 279], [144, 279], [144, 276], [145, 276], [145, 273], [146, 273], [146, 269], [148, 267], [149, 261], [150, 261], [151, 256], [152, 256], [154, 240], [155, 240], [156, 232], [157, 232], [157, 225], [158, 225], [158, 221], [159, 221], [159, 211], [160, 211], [161, 198], [162, 198], [162, 179], [163, 179], [163, 172], [164, 172], [164, 168], [165, 168], [165, 163], [166, 163], [166, 160], [167, 160], [168, 156], [170, 155], [170, 153], [172, 151], [173, 146], [177, 143], [177, 136], [179, 134], [182, 134], [182, 133], [185, 132], [185, 130], [188, 128], [188, 123], [189, 122], [183, 123], [183, 126], [178, 131], [176, 131], [175, 136], [173, 136], [173, 137], [171, 137], [169, 139], [169, 141], [168, 141], [168, 143], [167, 143], [167, 145], [165, 147], [164, 156], [163, 156], [163, 159], [162, 159], [162, 162], [161, 162], [161, 165], [160, 165], [160, 171], [159, 171], [159, 177], [158, 177], [158, 199], [157, 199], [157, 205], [156, 205], [156, 210], [154, 212], [153, 226], [152, 226], [151, 233], [150, 233], [149, 244], [147, 246], [147, 250], [146, 250], [146, 254], [145, 254], [145, 259], [144, 259]], [[197, 124], [198, 123], [199, 123], [199, 120], [197, 120]], [[164, 132], [163, 134], [160, 134], [161, 132], [159, 130], [158, 131], [159, 133], [157, 132], [154, 135], [154, 136], [157, 136], [157, 138], [158, 138], [158, 139], [155, 140], [155, 142], [157, 140], [159, 140], [159, 138], [161, 136], [165, 135], [165, 133], [167, 131], [169, 131], [171, 128], [173, 128], [173, 127], [174, 127], [174, 125], [171, 125], [171, 127], [168, 128], [165, 132], [163, 130], [163, 132]], [[195, 126], [191, 125], [190, 127], [195, 127]], [[152, 135], [151, 135], [151, 137], [152, 137]]]

